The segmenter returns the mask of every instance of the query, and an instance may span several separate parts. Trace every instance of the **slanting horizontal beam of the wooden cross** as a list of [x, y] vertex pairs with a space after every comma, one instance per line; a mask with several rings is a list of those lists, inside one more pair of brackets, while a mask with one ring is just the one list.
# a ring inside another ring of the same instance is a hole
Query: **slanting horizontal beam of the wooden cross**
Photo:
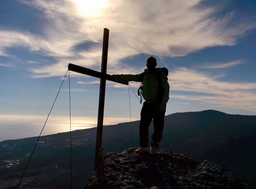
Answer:
[[81, 67], [75, 64], [68, 64], [68, 70], [73, 71], [73, 72], [77, 72], [77, 73], [81, 73], [84, 75], [88, 75], [88, 76], [93, 76], [96, 78], [100, 78], [100, 79], [107, 79], [109, 81], [113, 81], [116, 83], [121, 83], [121, 84], [126, 84], [128, 85], [128, 81], [124, 81], [122, 79], [119, 78], [114, 78], [113, 76], [109, 75], [109, 74], [104, 74], [101, 72], [97, 72], [95, 70], [91, 70], [85, 67]]

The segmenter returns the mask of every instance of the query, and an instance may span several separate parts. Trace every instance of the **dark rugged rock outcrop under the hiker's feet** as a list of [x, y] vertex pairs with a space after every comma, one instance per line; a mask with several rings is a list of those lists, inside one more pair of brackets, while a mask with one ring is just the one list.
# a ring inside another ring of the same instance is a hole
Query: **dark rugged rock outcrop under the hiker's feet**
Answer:
[[157, 149], [135, 154], [137, 148], [108, 153], [84, 189], [250, 189], [228, 170], [186, 154]]

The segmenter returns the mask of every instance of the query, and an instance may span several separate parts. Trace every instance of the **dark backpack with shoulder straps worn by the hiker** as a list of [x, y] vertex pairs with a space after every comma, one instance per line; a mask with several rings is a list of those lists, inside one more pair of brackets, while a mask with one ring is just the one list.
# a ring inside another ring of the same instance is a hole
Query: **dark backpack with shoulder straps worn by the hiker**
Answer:
[[[164, 75], [166, 76], [166, 79], [168, 80], [167, 76], [168, 76], [168, 69], [165, 68], [165, 67], [161, 67], [160, 70], [156, 68], [155, 70], [155, 74], [157, 76], [157, 81], [159, 83], [159, 91], [160, 91], [160, 94], [159, 94], [159, 98], [163, 97], [163, 88], [162, 88], [162, 78], [161, 78], [161, 72], [164, 73]], [[139, 79], [143, 80], [145, 76], [145, 72], [143, 72], [140, 76]], [[141, 91], [143, 90], [143, 81], [141, 82], [140, 84], [140, 88], [138, 89], [138, 96], [140, 96], [140, 104], [142, 102], [142, 95], [141, 95]], [[168, 86], [169, 86], [169, 83], [168, 83]], [[170, 86], [169, 86], [170, 87]]]

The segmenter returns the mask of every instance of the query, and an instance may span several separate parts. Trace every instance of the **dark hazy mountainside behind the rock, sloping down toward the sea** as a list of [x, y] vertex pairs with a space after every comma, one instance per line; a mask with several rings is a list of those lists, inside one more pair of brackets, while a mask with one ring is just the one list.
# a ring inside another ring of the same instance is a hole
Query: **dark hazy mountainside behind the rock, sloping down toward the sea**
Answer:
[[[149, 138], [152, 133], [151, 125]], [[167, 142], [172, 151], [189, 154], [199, 163], [209, 160], [223, 166], [256, 189], [256, 116], [233, 115], [216, 110], [173, 113], [165, 117], [163, 137], [165, 140], [160, 142], [160, 148], [169, 149]], [[25, 174], [25, 177], [28, 174], [27, 177], [33, 175], [35, 178], [38, 175], [38, 180], [28, 183], [44, 183], [42, 186], [49, 185], [51, 188], [67, 186], [65, 184], [70, 176], [69, 139], [69, 132], [40, 137], [39, 141], [44, 143], [38, 143], [28, 173]], [[0, 142], [0, 167], [3, 168], [0, 169], [0, 186], [12, 186], [8, 182], [16, 182], [13, 179], [20, 177], [36, 140], [37, 137], [30, 137]], [[77, 187], [84, 186], [87, 182], [85, 178], [93, 171], [95, 140], [96, 128], [72, 131], [72, 166], [76, 170], [73, 172], [76, 178], [73, 183]], [[120, 153], [138, 145], [139, 121], [103, 127], [104, 154]], [[6, 168], [8, 160], [20, 160], [21, 163]], [[45, 177], [39, 176], [41, 174]]]

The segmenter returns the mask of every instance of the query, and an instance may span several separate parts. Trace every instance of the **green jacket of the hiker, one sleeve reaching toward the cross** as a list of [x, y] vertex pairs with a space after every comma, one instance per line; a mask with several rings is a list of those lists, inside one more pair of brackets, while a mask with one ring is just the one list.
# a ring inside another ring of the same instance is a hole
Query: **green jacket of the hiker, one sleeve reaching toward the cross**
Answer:
[[[160, 69], [160, 68], [156, 68], [156, 69]], [[123, 79], [125, 81], [143, 82], [142, 96], [143, 96], [143, 99], [145, 99], [145, 103], [155, 102], [159, 100], [157, 94], [160, 93], [157, 76], [154, 72], [148, 73], [148, 69], [145, 69], [144, 72], [145, 72], [145, 76], [143, 78], [143, 81], [142, 79], [140, 79], [140, 76], [142, 73], [136, 74], [136, 75], [121, 74], [119, 76], [120, 76], [120, 79]], [[163, 72], [161, 72], [161, 77], [162, 77], [162, 87], [163, 87], [162, 103], [166, 104], [169, 100], [169, 85], [168, 85], [166, 76], [164, 75]]]

